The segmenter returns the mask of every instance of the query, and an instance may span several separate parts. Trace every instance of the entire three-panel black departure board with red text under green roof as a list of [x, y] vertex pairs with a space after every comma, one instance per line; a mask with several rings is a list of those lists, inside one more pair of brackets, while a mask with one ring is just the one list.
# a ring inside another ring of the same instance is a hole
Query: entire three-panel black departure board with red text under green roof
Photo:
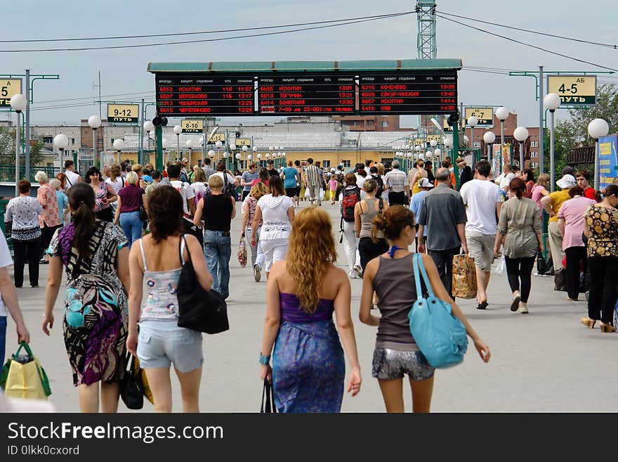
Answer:
[[455, 70], [159, 73], [155, 81], [158, 113], [168, 116], [423, 115], [457, 108]]

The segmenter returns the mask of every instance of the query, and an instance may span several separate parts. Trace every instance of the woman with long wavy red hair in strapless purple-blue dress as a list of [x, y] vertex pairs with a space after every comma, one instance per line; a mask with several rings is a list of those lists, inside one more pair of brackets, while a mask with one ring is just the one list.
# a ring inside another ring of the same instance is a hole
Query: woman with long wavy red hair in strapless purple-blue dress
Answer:
[[341, 411], [346, 376], [341, 342], [351, 367], [348, 392], [360, 391], [350, 281], [334, 266], [336, 255], [329, 214], [309, 207], [292, 223], [286, 259], [270, 271], [261, 378], [272, 380], [280, 412]]

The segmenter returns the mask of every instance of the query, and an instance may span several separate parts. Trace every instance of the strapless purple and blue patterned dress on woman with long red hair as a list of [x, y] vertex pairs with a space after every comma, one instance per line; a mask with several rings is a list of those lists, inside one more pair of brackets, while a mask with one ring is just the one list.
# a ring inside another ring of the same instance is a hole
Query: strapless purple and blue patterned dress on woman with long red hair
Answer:
[[346, 361], [333, 323], [333, 300], [314, 314], [294, 294], [280, 293], [281, 326], [272, 354], [272, 385], [279, 412], [340, 412]]

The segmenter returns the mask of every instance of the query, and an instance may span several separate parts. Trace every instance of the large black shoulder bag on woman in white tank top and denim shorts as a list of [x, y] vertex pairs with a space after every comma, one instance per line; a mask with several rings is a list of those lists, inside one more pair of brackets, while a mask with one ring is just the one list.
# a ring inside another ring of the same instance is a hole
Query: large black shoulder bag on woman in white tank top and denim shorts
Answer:
[[[182, 238], [186, 246], [187, 240], [184, 234]], [[180, 246], [178, 252], [180, 252]], [[180, 255], [180, 261], [182, 257]], [[180, 270], [176, 295], [178, 296], [178, 327], [209, 334], [224, 332], [230, 328], [228, 306], [225, 300], [214, 290], [206, 292], [202, 288], [197, 281], [190, 254], [183, 264], [183, 269]]]

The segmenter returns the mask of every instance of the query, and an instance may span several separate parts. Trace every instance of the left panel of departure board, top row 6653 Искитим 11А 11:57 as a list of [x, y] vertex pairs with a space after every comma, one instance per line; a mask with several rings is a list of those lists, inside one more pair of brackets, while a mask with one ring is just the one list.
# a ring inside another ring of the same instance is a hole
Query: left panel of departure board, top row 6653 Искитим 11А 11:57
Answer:
[[156, 75], [159, 115], [254, 115], [251, 75]]

